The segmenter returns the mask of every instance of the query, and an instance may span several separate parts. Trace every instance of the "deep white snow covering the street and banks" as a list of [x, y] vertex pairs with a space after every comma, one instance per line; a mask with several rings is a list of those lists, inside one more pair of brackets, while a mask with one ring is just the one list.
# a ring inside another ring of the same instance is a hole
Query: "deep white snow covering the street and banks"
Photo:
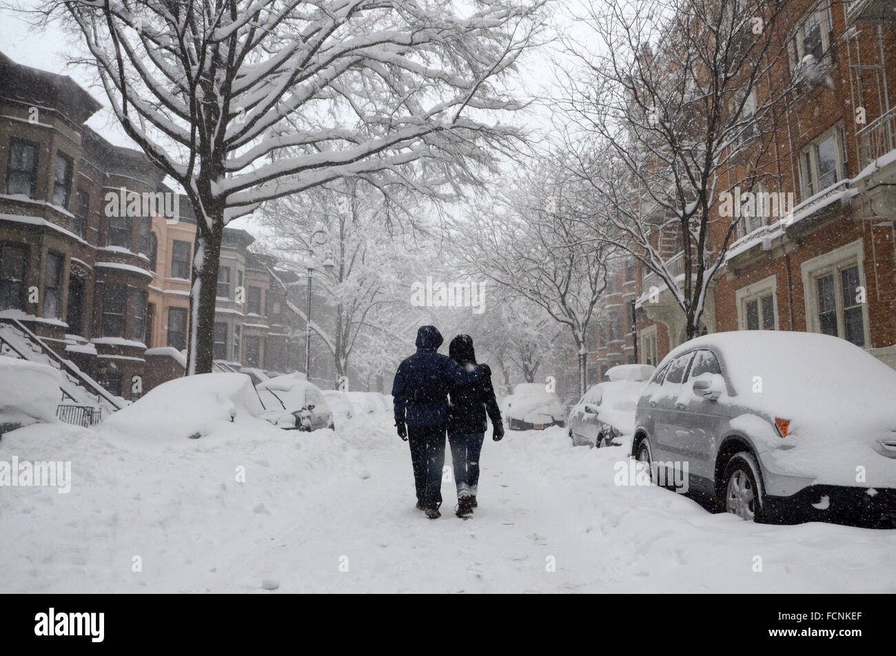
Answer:
[[487, 437], [474, 518], [444, 482], [427, 521], [393, 430], [382, 413], [335, 435], [7, 433], [0, 461], [70, 459], [73, 484], [0, 488], [0, 591], [896, 591], [896, 531], [754, 526], [616, 487], [622, 447], [573, 448], [561, 428]]

